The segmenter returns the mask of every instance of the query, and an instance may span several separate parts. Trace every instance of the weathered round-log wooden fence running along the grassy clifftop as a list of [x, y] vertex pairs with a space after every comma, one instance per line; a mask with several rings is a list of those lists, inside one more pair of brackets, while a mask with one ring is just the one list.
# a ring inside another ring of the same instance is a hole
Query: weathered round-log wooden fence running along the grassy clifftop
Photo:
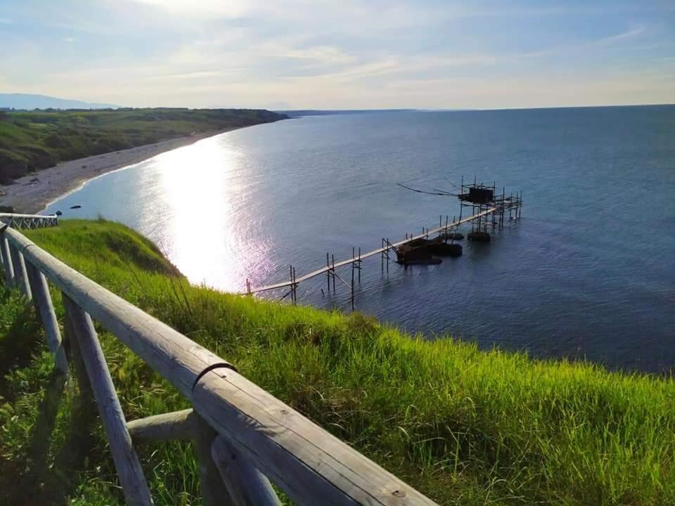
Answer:
[[[23, 216], [22, 223], [53, 226], [56, 218]], [[64, 342], [70, 344], [77, 377], [94, 394], [127, 504], [153, 504], [133, 443], [166, 439], [195, 442], [206, 506], [278, 505], [270, 482], [300, 505], [435, 504], [246, 380], [231, 363], [66, 266], [18, 231], [5, 228], [0, 245], [5, 282], [34, 302], [55, 368], [64, 377], [69, 372]], [[48, 283], [63, 297], [63, 333]], [[94, 321], [165, 377], [193, 408], [127, 422]]]

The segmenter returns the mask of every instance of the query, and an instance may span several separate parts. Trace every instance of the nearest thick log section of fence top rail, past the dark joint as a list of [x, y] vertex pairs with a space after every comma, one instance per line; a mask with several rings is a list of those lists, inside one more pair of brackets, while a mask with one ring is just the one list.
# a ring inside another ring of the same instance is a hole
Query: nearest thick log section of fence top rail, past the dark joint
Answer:
[[193, 406], [297, 504], [434, 504], [233, 370], [203, 375]]

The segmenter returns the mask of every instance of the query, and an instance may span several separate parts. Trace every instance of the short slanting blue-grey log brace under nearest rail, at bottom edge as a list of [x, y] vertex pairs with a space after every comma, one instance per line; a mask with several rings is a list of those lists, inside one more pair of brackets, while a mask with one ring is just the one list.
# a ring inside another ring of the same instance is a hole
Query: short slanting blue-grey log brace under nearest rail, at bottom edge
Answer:
[[239, 455], [223, 436], [211, 446], [211, 455], [220, 476], [229, 491], [234, 506], [279, 506], [269, 479]]

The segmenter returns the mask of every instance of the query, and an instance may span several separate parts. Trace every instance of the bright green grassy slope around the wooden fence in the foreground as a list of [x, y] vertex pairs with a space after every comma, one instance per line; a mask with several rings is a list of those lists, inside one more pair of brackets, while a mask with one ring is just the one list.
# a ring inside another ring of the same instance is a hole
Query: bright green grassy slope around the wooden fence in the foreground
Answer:
[[[152, 245], [122, 226], [62, 223], [30, 237], [228, 358], [442, 504], [675, 503], [672, 380], [532, 361], [451, 339], [426, 342], [359, 314], [219, 294], [188, 285]], [[30, 454], [50, 359], [40, 342], [30, 344], [32, 309], [21, 309], [7, 292], [0, 304], [0, 352], [19, 364], [0, 389], [7, 399], [0, 408], [0, 458], [12, 471]], [[22, 339], [26, 346], [12, 344]], [[139, 359], [110, 336], [102, 340], [127, 417], [185, 407]], [[47, 465], [61, 462], [58, 448], [68, 441], [76, 391], [70, 384], [61, 403]], [[84, 471], [67, 475], [75, 488], [61, 492], [75, 504], [120, 501], [100, 429], [95, 432], [89, 460], [75, 465]], [[167, 443], [141, 454], [158, 504], [198, 503], [188, 445]], [[57, 488], [49, 480], [44, 486]]]

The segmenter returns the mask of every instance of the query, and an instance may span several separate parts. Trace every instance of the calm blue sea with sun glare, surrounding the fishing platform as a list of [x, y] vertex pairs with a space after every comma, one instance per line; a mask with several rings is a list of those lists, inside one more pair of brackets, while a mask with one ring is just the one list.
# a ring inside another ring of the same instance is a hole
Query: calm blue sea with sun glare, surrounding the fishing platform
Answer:
[[[675, 106], [290, 119], [106, 174], [46, 212], [121, 221], [193, 283], [244, 291], [437, 226], [458, 200], [396, 183], [454, 190], [474, 175], [522, 189], [522, 219], [437, 266], [364, 261], [358, 311], [430, 339], [675, 365]], [[351, 311], [347, 287], [321, 288], [323, 276], [300, 285], [298, 301]]]

